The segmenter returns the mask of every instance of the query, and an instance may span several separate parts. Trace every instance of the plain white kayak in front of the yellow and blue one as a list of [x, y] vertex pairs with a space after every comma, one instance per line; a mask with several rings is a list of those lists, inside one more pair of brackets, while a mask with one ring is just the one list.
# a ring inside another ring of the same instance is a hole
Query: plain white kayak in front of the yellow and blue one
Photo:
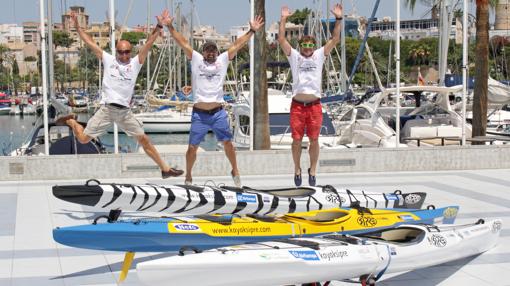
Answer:
[[497, 243], [502, 221], [400, 225], [359, 236], [325, 235], [222, 247], [138, 263], [146, 285], [289, 285], [430, 267], [477, 255]]

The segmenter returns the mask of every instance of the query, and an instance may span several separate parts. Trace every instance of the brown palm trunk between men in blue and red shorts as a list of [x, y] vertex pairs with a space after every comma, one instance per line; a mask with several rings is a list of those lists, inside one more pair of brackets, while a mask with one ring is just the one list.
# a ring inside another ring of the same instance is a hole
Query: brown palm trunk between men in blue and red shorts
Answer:
[[[255, 0], [255, 15], [260, 15], [266, 18], [265, 0]], [[271, 141], [269, 140], [269, 113], [268, 113], [268, 99], [267, 99], [267, 76], [266, 76], [266, 32], [265, 27], [262, 27], [255, 33], [254, 53], [257, 59], [254, 63], [255, 78], [253, 87], [253, 103], [250, 103], [253, 108], [253, 149], [254, 150], [268, 150], [271, 148]]]

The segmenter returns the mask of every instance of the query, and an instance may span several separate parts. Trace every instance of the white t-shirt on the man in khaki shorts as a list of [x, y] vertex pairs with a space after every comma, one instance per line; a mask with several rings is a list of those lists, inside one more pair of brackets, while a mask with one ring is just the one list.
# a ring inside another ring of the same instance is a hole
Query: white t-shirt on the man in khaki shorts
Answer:
[[103, 90], [101, 104], [117, 103], [129, 106], [136, 84], [136, 77], [142, 68], [138, 56], [124, 64], [103, 51]]

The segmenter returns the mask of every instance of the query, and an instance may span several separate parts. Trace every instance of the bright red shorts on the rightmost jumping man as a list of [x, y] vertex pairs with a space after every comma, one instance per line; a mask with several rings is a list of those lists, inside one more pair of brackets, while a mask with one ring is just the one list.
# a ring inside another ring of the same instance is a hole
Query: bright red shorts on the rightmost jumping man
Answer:
[[290, 106], [290, 128], [292, 139], [301, 140], [305, 135], [310, 139], [319, 138], [322, 127], [322, 105], [320, 102], [311, 105], [292, 101]]

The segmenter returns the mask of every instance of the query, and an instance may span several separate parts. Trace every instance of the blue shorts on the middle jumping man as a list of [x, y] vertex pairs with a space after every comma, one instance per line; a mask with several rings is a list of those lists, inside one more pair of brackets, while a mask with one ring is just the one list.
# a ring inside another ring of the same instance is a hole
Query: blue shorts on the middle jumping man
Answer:
[[228, 115], [224, 109], [209, 114], [206, 112], [193, 111], [191, 114], [191, 130], [189, 132], [189, 144], [198, 146], [204, 140], [209, 130], [214, 132], [218, 141], [232, 140]]

